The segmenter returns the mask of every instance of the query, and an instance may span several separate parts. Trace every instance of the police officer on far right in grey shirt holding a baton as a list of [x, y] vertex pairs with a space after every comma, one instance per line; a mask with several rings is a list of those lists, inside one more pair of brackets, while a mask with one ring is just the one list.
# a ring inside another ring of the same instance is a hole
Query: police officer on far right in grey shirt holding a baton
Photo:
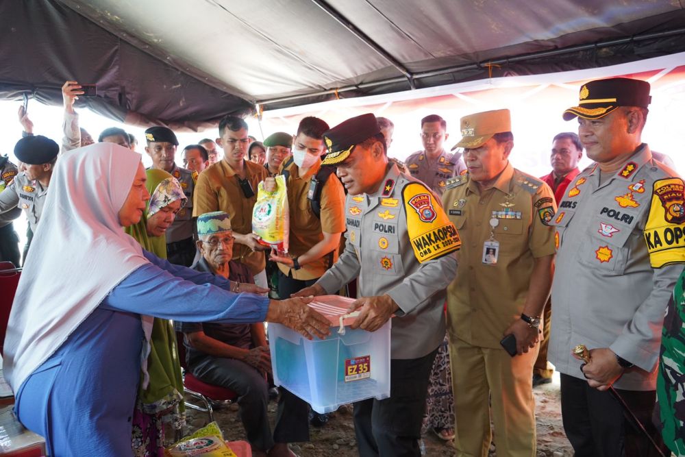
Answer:
[[[657, 445], [651, 423], [664, 310], [685, 260], [683, 182], [653, 160], [642, 132], [649, 83], [580, 88], [578, 136], [595, 161], [569, 186], [551, 225], [558, 245], [549, 360], [561, 374], [566, 436], [577, 456], [659, 455], [627, 421], [613, 386]], [[650, 264], [651, 262], [651, 264]], [[655, 267], [653, 269], [653, 267]], [[573, 278], [569, 281], [569, 278]], [[571, 356], [586, 345], [589, 362]]]

